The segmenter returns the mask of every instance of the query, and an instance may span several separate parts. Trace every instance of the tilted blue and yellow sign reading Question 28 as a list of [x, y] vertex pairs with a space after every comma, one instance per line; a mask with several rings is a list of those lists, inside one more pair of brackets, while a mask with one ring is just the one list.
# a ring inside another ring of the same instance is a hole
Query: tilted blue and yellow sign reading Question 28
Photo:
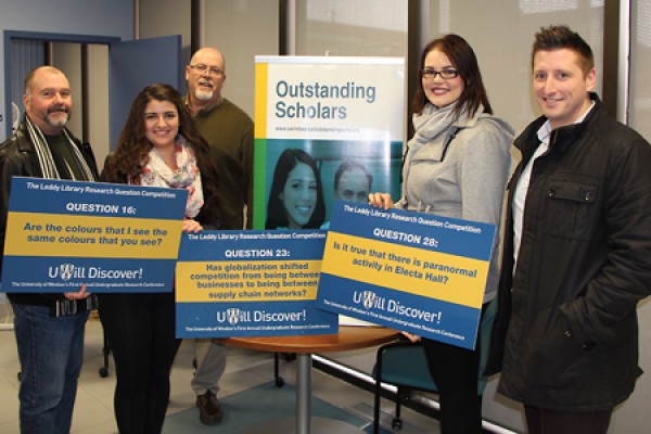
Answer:
[[495, 227], [335, 201], [317, 306], [474, 348]]

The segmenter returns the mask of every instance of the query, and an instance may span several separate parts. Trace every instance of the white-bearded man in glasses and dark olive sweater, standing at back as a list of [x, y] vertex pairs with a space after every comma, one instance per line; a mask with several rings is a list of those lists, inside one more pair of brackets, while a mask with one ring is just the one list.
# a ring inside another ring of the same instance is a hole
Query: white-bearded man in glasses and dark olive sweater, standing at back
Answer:
[[[210, 145], [219, 173], [220, 228], [251, 229], [253, 207], [253, 120], [221, 95], [226, 61], [219, 50], [202, 48], [186, 66], [186, 106], [199, 132]], [[221, 422], [217, 400], [219, 379], [226, 369], [226, 348], [210, 340], [195, 340], [196, 371], [192, 388], [196, 393], [199, 418], [203, 424]]]

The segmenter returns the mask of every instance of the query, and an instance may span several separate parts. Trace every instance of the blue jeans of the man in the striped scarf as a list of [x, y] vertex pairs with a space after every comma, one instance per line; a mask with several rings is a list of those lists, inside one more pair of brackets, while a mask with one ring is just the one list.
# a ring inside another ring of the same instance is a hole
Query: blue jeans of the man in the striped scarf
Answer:
[[55, 318], [47, 306], [13, 304], [21, 360], [21, 433], [69, 434], [88, 311]]

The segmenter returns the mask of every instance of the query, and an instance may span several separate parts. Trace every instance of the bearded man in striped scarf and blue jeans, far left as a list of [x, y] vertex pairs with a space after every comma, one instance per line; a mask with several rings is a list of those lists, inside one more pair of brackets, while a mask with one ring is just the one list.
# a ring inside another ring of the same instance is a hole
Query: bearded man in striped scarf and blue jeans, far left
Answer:
[[[23, 101], [23, 122], [0, 144], [0, 252], [4, 250], [13, 176], [84, 181], [98, 178], [90, 146], [82, 145], [64, 127], [73, 105], [65, 75], [52, 66], [34, 69], [25, 79]], [[84, 330], [95, 298], [89, 296], [86, 286], [74, 293], [10, 292], [8, 296], [14, 310], [22, 369], [21, 432], [68, 434]]]

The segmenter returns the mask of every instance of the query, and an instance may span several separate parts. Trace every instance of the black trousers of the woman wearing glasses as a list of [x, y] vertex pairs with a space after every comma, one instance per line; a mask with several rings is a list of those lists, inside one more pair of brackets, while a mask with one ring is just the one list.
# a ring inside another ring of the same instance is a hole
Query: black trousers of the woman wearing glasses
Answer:
[[481, 339], [477, 337], [474, 350], [431, 340], [423, 340], [423, 344], [430, 372], [438, 386], [442, 434], [481, 434]]

